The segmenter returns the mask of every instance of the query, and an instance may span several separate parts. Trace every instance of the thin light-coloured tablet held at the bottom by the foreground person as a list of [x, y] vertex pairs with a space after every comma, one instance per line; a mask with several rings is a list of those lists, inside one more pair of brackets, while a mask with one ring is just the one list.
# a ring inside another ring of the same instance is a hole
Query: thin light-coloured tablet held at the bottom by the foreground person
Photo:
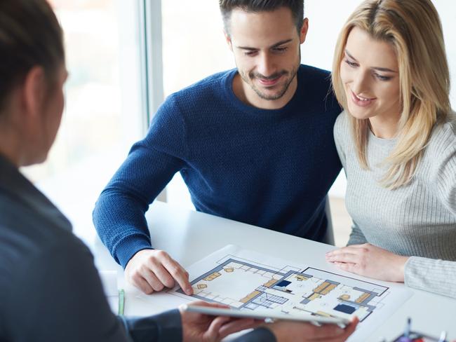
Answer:
[[324, 317], [317, 315], [289, 315], [286, 313], [277, 313], [273, 310], [237, 310], [231, 308], [210, 308], [208, 306], [186, 305], [185, 311], [192, 313], [203, 313], [213, 316], [229, 316], [229, 317], [244, 317], [254, 318], [255, 320], [292, 320], [298, 322], [309, 322], [317, 324], [337, 324], [345, 326], [350, 323], [349, 320], [342, 317]]

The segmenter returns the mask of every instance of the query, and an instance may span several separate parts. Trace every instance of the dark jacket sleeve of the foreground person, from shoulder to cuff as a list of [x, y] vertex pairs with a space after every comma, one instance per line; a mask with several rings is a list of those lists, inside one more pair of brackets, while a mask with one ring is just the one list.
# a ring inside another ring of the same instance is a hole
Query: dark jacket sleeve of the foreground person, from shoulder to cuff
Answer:
[[[93, 257], [72, 240], [28, 256], [11, 279], [4, 322], [11, 341], [181, 341], [173, 311], [141, 319], [116, 317]], [[121, 324], [121, 322], [124, 324]]]

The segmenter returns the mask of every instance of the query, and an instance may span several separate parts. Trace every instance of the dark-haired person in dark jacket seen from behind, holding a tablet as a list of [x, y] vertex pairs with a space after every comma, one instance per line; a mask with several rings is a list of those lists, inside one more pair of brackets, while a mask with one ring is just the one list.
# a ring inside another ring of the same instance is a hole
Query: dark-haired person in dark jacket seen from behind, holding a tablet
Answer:
[[[257, 325], [182, 309], [141, 318], [111, 312], [90, 251], [18, 170], [46, 160], [64, 106], [62, 30], [45, 0], [0, 1], [0, 50], [0, 341], [209, 342]], [[279, 322], [236, 341], [342, 341], [355, 326]]]

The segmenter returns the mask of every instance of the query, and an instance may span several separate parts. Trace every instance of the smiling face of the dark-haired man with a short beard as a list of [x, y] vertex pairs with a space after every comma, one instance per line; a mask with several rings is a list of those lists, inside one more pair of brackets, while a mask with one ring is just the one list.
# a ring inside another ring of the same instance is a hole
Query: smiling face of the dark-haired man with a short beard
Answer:
[[260, 108], [280, 108], [288, 103], [297, 87], [300, 44], [306, 34], [307, 20], [298, 34], [289, 8], [260, 13], [232, 11], [227, 41], [246, 102]]

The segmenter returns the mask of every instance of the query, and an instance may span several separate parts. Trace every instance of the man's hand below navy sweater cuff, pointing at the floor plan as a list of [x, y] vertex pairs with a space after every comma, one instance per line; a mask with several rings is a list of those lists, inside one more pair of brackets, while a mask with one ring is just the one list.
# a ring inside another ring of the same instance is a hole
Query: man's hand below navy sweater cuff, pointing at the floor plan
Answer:
[[187, 295], [193, 294], [189, 273], [168, 253], [159, 249], [142, 249], [128, 261], [125, 278], [145, 294], [172, 288], [175, 282]]

